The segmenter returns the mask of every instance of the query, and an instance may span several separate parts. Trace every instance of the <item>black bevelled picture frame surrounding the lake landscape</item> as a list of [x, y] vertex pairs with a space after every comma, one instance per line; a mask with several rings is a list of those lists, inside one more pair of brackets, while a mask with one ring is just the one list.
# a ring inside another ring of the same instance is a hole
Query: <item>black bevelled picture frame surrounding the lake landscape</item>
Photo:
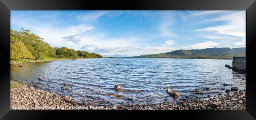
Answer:
[[[246, 10], [246, 51], [247, 51], [247, 106], [246, 111], [11, 111], [9, 100], [9, 29], [10, 10]], [[254, 73], [254, 45], [256, 40], [256, 2], [255, 0], [0, 0], [0, 118], [2, 119], [48, 119], [49, 115], [66, 118], [134, 118], [131, 113], [141, 117], [161, 117], [210, 119], [210, 120], [254, 120], [256, 119], [256, 74]], [[102, 114], [105, 115], [102, 115]], [[110, 115], [113, 114], [113, 115]], [[60, 115], [62, 114], [62, 115]], [[143, 115], [141, 115], [143, 114]], [[173, 117], [174, 116], [174, 117]], [[136, 116], [137, 118], [137, 116]]]

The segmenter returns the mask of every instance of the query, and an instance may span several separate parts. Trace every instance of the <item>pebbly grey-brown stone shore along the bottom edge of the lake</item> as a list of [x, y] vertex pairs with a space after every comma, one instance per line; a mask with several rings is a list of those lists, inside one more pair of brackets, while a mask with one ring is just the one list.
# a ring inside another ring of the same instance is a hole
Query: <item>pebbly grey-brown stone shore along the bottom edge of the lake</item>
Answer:
[[[10, 84], [16, 81], [10, 81]], [[69, 96], [59, 96], [54, 92], [40, 90], [28, 84], [18, 83], [10, 89], [11, 110], [246, 110], [246, 90], [234, 91], [212, 98], [193, 98], [173, 102], [165, 100], [157, 104], [135, 104], [122, 102], [121, 105], [103, 105], [72, 101]]]

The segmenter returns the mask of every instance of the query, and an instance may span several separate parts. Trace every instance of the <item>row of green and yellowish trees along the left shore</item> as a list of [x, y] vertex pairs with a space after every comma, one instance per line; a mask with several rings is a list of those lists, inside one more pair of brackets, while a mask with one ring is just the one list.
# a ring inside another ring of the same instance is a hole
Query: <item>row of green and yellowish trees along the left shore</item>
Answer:
[[10, 60], [40, 58], [102, 58], [96, 53], [75, 51], [67, 47], [51, 47], [43, 38], [29, 30], [10, 30]]

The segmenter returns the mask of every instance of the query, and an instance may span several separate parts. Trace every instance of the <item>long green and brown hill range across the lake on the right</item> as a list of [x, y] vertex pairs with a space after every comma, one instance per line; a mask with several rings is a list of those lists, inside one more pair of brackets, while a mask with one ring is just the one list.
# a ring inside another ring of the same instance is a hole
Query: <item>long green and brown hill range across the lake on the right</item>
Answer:
[[206, 48], [206, 49], [190, 49], [176, 50], [167, 53], [133, 56], [133, 58], [201, 58], [201, 59], [232, 59], [233, 56], [246, 56], [246, 48]]

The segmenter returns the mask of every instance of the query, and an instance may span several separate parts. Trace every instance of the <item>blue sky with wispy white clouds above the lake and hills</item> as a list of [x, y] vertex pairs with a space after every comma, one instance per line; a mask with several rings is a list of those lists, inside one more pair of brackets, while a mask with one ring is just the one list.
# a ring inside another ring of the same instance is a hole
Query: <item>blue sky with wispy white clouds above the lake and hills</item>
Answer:
[[28, 29], [52, 47], [100, 55], [245, 47], [245, 11], [12, 10], [11, 29]]

